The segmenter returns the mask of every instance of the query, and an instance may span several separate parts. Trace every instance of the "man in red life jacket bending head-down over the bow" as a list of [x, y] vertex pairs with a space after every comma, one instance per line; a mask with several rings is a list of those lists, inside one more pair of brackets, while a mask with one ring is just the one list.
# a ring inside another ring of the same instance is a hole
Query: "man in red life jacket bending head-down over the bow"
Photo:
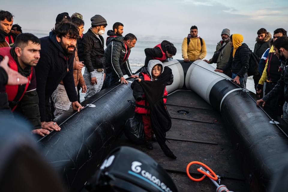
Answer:
[[147, 67], [148, 62], [152, 59], [157, 59], [164, 62], [168, 58], [172, 58], [174, 55], [176, 55], [177, 49], [174, 47], [173, 43], [164, 40], [154, 48], [146, 48], [144, 51], [146, 55], [144, 67]]

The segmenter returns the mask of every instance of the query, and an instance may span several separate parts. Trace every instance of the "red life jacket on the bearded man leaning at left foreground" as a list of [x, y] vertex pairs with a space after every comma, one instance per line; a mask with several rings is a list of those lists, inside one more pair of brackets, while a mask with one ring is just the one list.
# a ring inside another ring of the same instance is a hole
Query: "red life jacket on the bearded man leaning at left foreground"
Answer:
[[[14, 71], [17, 71], [18, 72], [18, 65], [16, 63], [16, 61], [13, 59], [12, 55], [10, 54], [10, 49], [9, 47], [3, 47], [0, 49], [0, 55], [2, 55], [3, 57], [5, 55], [7, 55], [9, 57], [9, 62], [8, 62], [8, 65], [11, 69], [13, 69]], [[30, 84], [30, 80], [32, 78], [32, 75], [33, 75], [33, 68], [31, 67], [31, 73], [30, 75], [27, 77], [29, 82], [25, 85], [25, 89], [23, 91], [23, 93], [21, 94], [18, 94], [18, 88], [19, 88], [19, 85], [6, 85], [6, 93], [8, 95], [8, 101], [11, 102], [11, 101], [14, 101], [16, 102], [16, 105], [13, 107], [13, 109], [11, 109], [12, 111], [14, 111], [17, 107], [17, 104], [19, 101], [21, 101], [22, 97], [24, 96], [29, 84]], [[16, 98], [18, 94], [18, 98]]]

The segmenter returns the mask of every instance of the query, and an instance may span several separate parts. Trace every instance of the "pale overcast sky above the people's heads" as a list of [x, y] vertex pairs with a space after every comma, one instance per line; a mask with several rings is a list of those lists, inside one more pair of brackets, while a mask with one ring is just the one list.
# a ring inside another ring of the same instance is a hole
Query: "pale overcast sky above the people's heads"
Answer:
[[[85, 31], [90, 18], [102, 15], [108, 23], [106, 31], [115, 22], [124, 24], [124, 34], [183, 39], [192, 25], [206, 41], [220, 39], [223, 28], [241, 33], [244, 42], [254, 41], [261, 27], [273, 33], [276, 28], [288, 29], [288, 1], [286, 0], [141, 0], [141, 1], [31, 1], [1, 2], [1, 9], [11, 12], [24, 32], [53, 28], [57, 14], [78, 12], [83, 15]], [[142, 39], [143, 40], [143, 39]]]

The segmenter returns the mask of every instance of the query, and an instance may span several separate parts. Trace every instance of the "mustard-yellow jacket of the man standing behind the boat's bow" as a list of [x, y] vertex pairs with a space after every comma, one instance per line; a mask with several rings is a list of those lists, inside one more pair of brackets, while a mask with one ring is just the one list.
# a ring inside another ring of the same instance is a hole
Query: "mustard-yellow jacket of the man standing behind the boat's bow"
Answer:
[[198, 37], [190, 38], [189, 46], [187, 46], [187, 37], [182, 42], [182, 56], [184, 59], [188, 58], [190, 61], [197, 60], [198, 58], [204, 59], [207, 54], [206, 44], [202, 39], [203, 45]]

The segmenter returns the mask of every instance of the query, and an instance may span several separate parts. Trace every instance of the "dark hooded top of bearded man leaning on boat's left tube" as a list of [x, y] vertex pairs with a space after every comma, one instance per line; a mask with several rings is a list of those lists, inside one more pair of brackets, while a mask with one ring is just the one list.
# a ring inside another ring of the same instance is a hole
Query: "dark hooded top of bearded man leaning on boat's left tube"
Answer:
[[35, 67], [41, 122], [46, 119], [45, 101], [50, 98], [60, 81], [71, 102], [77, 101], [74, 85], [73, 62], [75, 54], [67, 56], [52, 31], [41, 40], [40, 60]]

